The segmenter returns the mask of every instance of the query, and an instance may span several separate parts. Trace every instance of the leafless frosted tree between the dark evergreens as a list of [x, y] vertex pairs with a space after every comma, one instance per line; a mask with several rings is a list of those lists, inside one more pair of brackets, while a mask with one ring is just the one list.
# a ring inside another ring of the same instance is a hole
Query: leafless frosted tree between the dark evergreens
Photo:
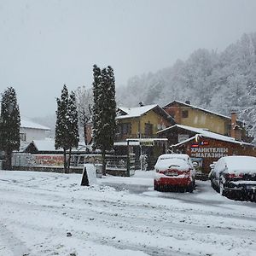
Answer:
[[91, 120], [91, 108], [93, 105], [93, 94], [91, 88], [85, 86], [79, 86], [75, 91], [76, 102], [79, 113], [79, 126], [83, 128], [84, 132], [84, 143], [87, 145], [87, 125]]

